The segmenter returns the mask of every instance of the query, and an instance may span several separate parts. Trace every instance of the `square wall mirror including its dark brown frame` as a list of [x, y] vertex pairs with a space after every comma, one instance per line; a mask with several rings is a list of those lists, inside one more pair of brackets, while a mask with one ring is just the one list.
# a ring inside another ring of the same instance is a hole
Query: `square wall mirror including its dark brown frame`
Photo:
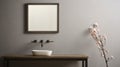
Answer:
[[26, 33], [58, 33], [58, 3], [27, 3], [25, 4]]

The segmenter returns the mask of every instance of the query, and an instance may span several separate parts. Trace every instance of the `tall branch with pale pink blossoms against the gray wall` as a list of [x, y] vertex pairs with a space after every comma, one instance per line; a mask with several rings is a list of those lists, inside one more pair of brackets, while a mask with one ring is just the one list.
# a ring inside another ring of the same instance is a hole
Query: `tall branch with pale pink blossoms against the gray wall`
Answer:
[[113, 56], [109, 57], [108, 51], [105, 48], [106, 37], [104, 35], [100, 34], [97, 23], [94, 23], [92, 26], [90, 26], [89, 32], [90, 32], [92, 38], [96, 41], [96, 44], [101, 53], [101, 56], [103, 56], [103, 58], [105, 60], [106, 67], [108, 67], [108, 61], [110, 59], [112, 59]]

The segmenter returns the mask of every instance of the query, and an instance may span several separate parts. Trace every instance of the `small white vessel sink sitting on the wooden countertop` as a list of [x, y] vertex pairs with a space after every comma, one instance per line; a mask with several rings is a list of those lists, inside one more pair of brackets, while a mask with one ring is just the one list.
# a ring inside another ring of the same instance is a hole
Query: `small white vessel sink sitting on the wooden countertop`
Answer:
[[52, 50], [32, 50], [33, 56], [51, 56]]

